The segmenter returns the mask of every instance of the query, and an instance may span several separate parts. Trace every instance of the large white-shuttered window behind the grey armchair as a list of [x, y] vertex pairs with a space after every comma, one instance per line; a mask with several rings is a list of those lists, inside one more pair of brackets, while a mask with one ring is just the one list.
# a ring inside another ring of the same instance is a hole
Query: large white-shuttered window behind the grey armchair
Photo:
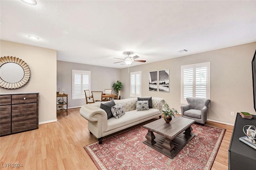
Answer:
[[187, 97], [210, 99], [210, 62], [181, 66], [181, 103]]

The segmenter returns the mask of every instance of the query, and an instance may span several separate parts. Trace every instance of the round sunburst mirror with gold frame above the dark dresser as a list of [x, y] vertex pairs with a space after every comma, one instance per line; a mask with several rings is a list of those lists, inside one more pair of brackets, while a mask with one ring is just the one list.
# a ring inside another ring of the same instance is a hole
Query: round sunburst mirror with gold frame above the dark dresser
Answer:
[[20, 88], [30, 78], [30, 69], [26, 62], [16, 57], [0, 58], [0, 87]]

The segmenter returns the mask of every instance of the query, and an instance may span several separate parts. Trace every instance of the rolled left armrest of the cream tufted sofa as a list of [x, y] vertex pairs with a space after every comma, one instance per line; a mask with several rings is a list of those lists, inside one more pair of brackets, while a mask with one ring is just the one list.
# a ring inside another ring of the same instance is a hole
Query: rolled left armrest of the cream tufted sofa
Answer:
[[91, 104], [85, 104], [80, 108], [80, 115], [88, 120], [88, 128], [89, 122], [95, 122], [92, 124], [98, 127], [97, 133], [104, 132], [107, 129], [108, 116], [105, 110]]

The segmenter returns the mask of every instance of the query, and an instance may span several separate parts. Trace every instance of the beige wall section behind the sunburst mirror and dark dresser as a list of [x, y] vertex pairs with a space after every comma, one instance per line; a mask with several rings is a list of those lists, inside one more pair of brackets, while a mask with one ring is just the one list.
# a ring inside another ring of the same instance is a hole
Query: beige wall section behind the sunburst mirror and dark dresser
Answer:
[[0, 41], [1, 57], [14, 56], [30, 68], [30, 80], [18, 89], [0, 88], [1, 93], [39, 92], [39, 123], [56, 120], [56, 50]]

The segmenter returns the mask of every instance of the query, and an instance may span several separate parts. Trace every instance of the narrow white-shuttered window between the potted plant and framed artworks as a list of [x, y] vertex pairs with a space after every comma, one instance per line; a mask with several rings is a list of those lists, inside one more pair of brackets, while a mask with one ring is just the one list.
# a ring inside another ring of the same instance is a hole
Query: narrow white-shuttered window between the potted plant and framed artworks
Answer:
[[141, 97], [141, 72], [131, 72], [130, 96]]

